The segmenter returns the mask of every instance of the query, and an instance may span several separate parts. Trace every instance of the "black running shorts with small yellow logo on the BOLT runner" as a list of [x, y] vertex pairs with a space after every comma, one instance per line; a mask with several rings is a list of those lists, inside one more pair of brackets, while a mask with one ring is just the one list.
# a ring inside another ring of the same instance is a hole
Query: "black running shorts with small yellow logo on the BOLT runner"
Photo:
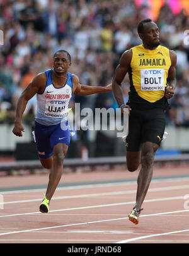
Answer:
[[140, 151], [144, 142], [160, 145], [164, 128], [165, 114], [163, 109], [132, 109], [129, 116], [129, 132], [126, 138], [127, 151]]

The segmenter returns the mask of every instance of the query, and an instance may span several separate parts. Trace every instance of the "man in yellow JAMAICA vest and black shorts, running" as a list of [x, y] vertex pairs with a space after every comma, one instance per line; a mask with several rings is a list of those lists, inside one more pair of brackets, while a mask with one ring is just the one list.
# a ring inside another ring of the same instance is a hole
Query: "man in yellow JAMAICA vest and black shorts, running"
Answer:
[[[137, 195], [129, 220], [138, 224], [141, 205], [151, 183], [156, 150], [165, 128], [164, 112], [176, 86], [176, 54], [159, 42], [159, 28], [151, 19], [140, 21], [137, 32], [142, 44], [123, 52], [113, 77], [113, 94], [122, 114], [129, 108], [129, 133], [126, 138], [127, 168], [135, 171]], [[125, 104], [122, 81], [129, 73], [129, 101]]]

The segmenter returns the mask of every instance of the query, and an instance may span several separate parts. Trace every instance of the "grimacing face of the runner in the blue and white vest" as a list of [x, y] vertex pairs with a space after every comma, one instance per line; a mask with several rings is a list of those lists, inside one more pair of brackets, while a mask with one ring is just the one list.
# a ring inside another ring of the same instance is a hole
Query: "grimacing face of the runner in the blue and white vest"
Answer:
[[71, 66], [66, 52], [58, 52], [54, 56], [53, 68], [56, 73], [65, 73]]

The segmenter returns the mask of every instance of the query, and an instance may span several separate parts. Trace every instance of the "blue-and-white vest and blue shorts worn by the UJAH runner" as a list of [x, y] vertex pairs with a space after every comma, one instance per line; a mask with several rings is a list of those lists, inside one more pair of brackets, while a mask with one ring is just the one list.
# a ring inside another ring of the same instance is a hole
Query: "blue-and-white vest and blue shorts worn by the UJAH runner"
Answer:
[[[42, 94], [37, 94], [37, 115], [33, 133], [37, 143], [38, 156], [47, 159], [53, 155], [57, 143], [69, 146], [71, 134], [67, 122], [69, 100], [72, 97], [72, 75], [67, 72], [67, 80], [60, 88], [52, 82], [52, 70], [45, 71], [47, 82]], [[63, 126], [65, 129], [62, 129]]]

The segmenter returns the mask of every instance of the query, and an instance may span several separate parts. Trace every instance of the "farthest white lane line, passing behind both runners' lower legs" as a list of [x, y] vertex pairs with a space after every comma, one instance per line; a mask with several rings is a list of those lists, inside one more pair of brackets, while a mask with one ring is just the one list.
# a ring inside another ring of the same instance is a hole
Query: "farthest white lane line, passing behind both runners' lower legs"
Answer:
[[[136, 178], [137, 180], [137, 178]], [[61, 191], [61, 190], [72, 190], [72, 189], [81, 189], [81, 188], [96, 188], [96, 187], [101, 187], [101, 186], [124, 186], [124, 185], [132, 185], [136, 184], [135, 181], [120, 181], [120, 182], [110, 182], [110, 183], [100, 183], [100, 184], [89, 184], [89, 185], [72, 185], [72, 186], [64, 186], [62, 188], [58, 187], [56, 191]], [[151, 183], [163, 183], [163, 182], [182, 182], [182, 181], [188, 181], [189, 177], [183, 177], [183, 178], [161, 178], [161, 179], [156, 179], [151, 181]], [[4, 188], [6, 189], [6, 188]], [[15, 193], [26, 193], [26, 192], [44, 192], [45, 188], [36, 188], [36, 189], [26, 189], [26, 190], [11, 190], [11, 191], [0, 191], [0, 194], [15, 194]]]

